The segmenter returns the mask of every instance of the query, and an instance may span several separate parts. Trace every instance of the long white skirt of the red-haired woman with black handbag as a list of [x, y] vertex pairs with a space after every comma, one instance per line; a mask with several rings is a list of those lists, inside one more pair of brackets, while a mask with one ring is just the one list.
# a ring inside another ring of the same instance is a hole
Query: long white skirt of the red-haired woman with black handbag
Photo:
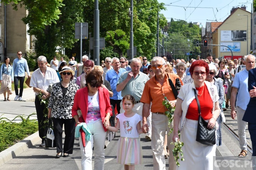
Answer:
[[180, 139], [180, 141], [184, 142], [184, 146], [181, 149], [185, 160], [179, 160], [180, 167], [177, 169], [213, 169], [213, 156], [215, 156], [216, 144], [208, 146], [196, 141], [197, 124], [197, 120], [186, 119], [185, 121]]

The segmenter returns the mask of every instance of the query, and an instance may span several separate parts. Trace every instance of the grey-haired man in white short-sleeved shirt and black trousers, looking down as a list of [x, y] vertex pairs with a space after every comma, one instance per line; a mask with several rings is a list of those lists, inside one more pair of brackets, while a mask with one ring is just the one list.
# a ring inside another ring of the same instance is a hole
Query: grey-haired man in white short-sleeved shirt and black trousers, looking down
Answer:
[[38, 95], [42, 95], [42, 99], [48, 99], [50, 97], [50, 93], [47, 91], [49, 85], [59, 82], [59, 78], [57, 72], [47, 67], [46, 57], [41, 55], [37, 58], [38, 69], [35, 70], [31, 76], [30, 86], [33, 87], [35, 92], [35, 110], [37, 111], [37, 119], [38, 119], [38, 131], [39, 137], [42, 139], [42, 143], [39, 145], [40, 147], [45, 146], [45, 137], [47, 133], [47, 124], [45, 125], [43, 122], [47, 119], [44, 117], [43, 111], [45, 109], [45, 104], [42, 102]]

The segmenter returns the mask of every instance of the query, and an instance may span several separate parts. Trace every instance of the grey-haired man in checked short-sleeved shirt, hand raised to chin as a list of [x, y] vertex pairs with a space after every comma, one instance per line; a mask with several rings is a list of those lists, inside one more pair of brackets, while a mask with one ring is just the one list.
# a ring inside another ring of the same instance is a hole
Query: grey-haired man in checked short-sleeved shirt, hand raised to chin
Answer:
[[[143, 103], [140, 102], [140, 98], [146, 82], [149, 80], [148, 76], [143, 72], [140, 72], [141, 60], [140, 58], [133, 58], [131, 60], [131, 71], [124, 72], [116, 86], [116, 91], [122, 91], [121, 95], [132, 95], [136, 101], [133, 107], [133, 112], [142, 116]], [[124, 113], [122, 102], [120, 103], [120, 112]]]

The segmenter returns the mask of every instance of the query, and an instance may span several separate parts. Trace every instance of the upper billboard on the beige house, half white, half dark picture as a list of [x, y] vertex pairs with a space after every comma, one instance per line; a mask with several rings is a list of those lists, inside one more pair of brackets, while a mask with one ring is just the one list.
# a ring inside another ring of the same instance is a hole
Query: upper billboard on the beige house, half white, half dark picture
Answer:
[[246, 41], [246, 30], [223, 30], [221, 41]]

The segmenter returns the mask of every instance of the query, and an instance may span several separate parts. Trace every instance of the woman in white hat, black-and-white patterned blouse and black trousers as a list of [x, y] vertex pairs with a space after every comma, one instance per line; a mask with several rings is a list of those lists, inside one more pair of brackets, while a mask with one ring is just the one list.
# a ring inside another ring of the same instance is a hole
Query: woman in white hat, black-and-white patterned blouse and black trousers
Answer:
[[[73, 153], [75, 139], [75, 120], [72, 118], [71, 109], [74, 103], [74, 96], [79, 86], [71, 80], [75, 74], [68, 66], [64, 66], [59, 72], [61, 81], [55, 83], [48, 104], [48, 118], [52, 117], [53, 132], [56, 140], [56, 158], [68, 157]], [[62, 149], [62, 128], [65, 128], [65, 141]]]

